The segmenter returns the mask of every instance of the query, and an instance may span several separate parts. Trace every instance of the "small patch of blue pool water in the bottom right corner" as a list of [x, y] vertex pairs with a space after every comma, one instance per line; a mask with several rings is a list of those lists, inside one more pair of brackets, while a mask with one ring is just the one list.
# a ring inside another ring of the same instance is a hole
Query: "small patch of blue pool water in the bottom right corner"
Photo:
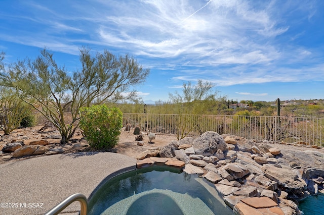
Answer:
[[304, 215], [324, 215], [324, 195], [309, 196], [300, 201], [298, 207]]

